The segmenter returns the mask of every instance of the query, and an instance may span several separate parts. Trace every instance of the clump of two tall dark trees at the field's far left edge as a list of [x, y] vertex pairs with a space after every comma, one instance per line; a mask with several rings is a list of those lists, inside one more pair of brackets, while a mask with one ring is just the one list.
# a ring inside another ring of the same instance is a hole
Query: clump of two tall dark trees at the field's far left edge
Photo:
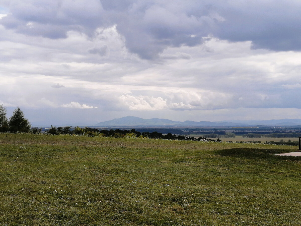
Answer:
[[13, 115], [6, 117], [6, 108], [0, 105], [0, 132], [29, 132], [31, 124], [25, 118], [23, 111], [19, 107], [14, 110]]

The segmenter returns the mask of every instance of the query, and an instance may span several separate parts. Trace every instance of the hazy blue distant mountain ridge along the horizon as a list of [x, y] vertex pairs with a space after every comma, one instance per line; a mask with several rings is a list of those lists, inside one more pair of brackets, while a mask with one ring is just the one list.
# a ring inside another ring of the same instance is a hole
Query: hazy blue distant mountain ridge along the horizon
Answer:
[[301, 125], [301, 119], [271, 119], [271, 120], [231, 120], [231, 121], [172, 121], [162, 118], [143, 119], [135, 116], [115, 118], [96, 124], [101, 127], [125, 126], [296, 126]]

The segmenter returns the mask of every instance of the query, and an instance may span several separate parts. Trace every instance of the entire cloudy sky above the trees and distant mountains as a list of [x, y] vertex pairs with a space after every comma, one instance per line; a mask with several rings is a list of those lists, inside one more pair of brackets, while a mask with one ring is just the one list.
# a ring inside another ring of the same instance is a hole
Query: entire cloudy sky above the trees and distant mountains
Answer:
[[299, 0], [0, 0], [0, 104], [33, 126], [301, 118]]

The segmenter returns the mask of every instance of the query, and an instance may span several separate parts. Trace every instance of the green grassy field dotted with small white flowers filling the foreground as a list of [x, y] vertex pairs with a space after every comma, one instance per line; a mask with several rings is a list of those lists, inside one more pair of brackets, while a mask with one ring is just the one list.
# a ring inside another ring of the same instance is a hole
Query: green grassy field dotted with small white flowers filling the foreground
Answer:
[[0, 225], [301, 225], [297, 149], [0, 134]]

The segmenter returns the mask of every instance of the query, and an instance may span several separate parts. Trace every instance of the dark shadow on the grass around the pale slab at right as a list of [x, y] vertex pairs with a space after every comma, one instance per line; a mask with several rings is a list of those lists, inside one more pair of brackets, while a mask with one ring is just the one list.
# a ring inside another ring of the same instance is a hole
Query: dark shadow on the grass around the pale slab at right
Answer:
[[299, 156], [279, 156], [275, 154], [293, 152], [292, 150], [287, 149], [256, 149], [256, 148], [231, 148], [216, 150], [214, 154], [221, 156], [230, 156], [230, 157], [244, 157], [251, 159], [291, 159], [291, 160], [300, 160]]

